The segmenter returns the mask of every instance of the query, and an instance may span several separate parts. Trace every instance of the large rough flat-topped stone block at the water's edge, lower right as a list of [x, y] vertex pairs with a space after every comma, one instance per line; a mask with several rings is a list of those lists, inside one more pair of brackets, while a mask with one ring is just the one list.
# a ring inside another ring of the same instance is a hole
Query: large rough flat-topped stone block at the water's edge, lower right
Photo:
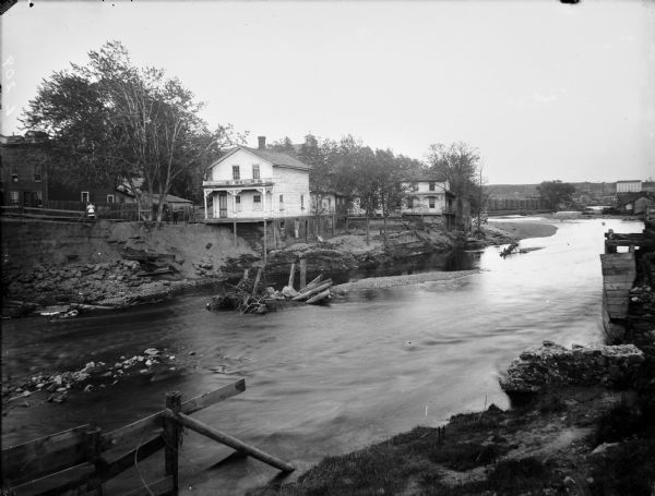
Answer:
[[644, 361], [633, 344], [574, 346], [551, 341], [524, 350], [500, 379], [508, 394], [534, 394], [558, 386], [620, 387], [631, 380]]

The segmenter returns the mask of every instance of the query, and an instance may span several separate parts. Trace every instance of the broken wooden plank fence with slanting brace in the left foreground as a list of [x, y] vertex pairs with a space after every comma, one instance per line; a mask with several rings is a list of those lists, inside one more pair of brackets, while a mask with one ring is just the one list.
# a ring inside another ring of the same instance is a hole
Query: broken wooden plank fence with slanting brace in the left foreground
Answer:
[[283, 472], [294, 471], [290, 463], [189, 416], [245, 390], [246, 380], [239, 379], [183, 402], [180, 392], [168, 392], [164, 410], [116, 431], [103, 433], [97, 427], [81, 425], [3, 449], [2, 494], [59, 495], [76, 489], [75, 494], [103, 495], [104, 483], [164, 449], [165, 476], [123, 496], [177, 495], [182, 427]]

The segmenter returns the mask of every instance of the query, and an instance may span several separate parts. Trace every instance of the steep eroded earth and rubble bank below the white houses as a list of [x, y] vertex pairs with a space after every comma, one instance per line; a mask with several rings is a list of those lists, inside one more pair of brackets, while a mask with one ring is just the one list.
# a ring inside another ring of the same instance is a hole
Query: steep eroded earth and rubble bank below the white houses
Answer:
[[[245, 235], [258, 239], [258, 231]], [[245, 268], [262, 265], [258, 243], [246, 238], [235, 239], [227, 229], [205, 225], [3, 220], [2, 314], [124, 307], [234, 279]], [[451, 235], [434, 228], [396, 230], [388, 234], [386, 243], [381, 235], [367, 242], [364, 231], [353, 231], [320, 242], [274, 246], [267, 253], [265, 276], [288, 275], [299, 258], [307, 261], [309, 274], [346, 271], [454, 246]]]

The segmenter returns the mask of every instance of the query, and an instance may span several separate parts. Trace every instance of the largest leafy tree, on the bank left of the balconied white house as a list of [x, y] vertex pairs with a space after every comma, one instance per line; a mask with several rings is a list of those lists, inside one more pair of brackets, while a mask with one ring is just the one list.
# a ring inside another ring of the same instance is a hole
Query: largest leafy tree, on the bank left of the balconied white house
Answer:
[[[81, 182], [127, 182], [142, 209], [164, 198], [174, 182], [231, 145], [230, 128], [210, 131], [198, 117], [202, 104], [164, 71], [136, 68], [119, 41], [88, 53], [87, 65], [71, 64], [44, 81], [24, 111], [24, 128], [52, 136], [62, 177]], [[147, 208], [148, 218], [152, 208]]]

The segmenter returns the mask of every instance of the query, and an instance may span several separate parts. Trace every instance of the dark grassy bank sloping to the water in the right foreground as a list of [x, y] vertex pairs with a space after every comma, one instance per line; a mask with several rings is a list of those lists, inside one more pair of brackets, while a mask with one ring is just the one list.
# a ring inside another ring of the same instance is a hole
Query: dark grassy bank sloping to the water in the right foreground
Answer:
[[[325, 458], [272, 495], [647, 495], [655, 489], [655, 411], [602, 388], [560, 390], [510, 411], [455, 415]], [[639, 437], [635, 437], [639, 436]], [[592, 451], [604, 443], [604, 452]]]

